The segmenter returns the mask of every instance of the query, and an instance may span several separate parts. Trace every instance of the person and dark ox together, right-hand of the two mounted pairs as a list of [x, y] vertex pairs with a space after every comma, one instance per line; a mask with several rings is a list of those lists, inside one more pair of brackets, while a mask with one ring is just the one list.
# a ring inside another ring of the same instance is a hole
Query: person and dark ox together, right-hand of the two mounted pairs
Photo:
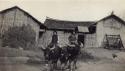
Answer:
[[73, 62], [75, 68], [76, 68], [76, 62], [77, 62], [77, 57], [80, 52], [80, 45], [77, 42], [77, 37], [75, 32], [72, 32], [71, 35], [69, 36], [69, 44], [68, 44], [68, 60], [69, 60], [69, 67], [71, 67], [71, 62]]

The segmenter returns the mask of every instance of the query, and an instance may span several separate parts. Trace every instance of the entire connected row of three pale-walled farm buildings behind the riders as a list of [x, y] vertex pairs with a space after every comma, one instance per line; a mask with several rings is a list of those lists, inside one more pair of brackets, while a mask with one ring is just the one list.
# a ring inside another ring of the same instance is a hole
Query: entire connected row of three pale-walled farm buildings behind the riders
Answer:
[[73, 31], [84, 47], [125, 46], [125, 21], [113, 13], [99, 21], [66, 21], [47, 17], [43, 25], [17, 6], [0, 12], [0, 35], [9, 27], [24, 24], [32, 27], [36, 33], [36, 42], [44, 47], [51, 42], [53, 31], [57, 31], [62, 46], [68, 43], [68, 37]]

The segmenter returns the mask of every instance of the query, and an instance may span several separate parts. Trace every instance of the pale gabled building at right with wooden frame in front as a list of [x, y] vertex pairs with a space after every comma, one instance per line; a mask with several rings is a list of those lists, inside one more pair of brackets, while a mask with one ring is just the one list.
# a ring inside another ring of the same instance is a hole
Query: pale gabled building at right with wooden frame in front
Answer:
[[124, 48], [125, 21], [114, 13], [96, 23], [97, 46]]

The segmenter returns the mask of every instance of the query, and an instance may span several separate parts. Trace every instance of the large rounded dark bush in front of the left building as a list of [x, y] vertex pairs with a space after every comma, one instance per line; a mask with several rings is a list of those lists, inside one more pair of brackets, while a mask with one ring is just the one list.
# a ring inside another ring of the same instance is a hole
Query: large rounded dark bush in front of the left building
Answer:
[[4, 32], [2, 46], [28, 49], [29, 47], [34, 47], [35, 37], [36, 34], [30, 25], [10, 27]]

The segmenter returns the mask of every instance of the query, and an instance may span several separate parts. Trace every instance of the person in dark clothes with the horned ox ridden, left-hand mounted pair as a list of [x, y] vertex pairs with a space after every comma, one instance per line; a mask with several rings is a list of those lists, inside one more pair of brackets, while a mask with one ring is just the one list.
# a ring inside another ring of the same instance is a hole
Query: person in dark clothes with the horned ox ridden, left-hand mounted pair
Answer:
[[44, 52], [45, 61], [50, 65], [50, 69], [57, 67], [57, 61], [61, 55], [61, 48], [58, 46], [58, 35], [57, 32], [54, 31], [52, 35], [52, 41], [46, 48], [41, 48]]

